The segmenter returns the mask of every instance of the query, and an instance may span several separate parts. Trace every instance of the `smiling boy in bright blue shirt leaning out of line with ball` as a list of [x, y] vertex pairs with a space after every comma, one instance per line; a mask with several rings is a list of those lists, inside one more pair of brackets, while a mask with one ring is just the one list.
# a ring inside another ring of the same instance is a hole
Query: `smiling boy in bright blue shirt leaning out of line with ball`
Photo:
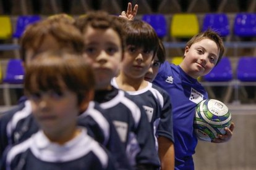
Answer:
[[[194, 169], [192, 155], [197, 146], [193, 131], [195, 107], [208, 99], [207, 91], [198, 83], [199, 76], [207, 75], [221, 60], [224, 44], [220, 36], [212, 30], [195, 35], [184, 52], [180, 65], [164, 62], [154, 84], [165, 89], [171, 96], [173, 105], [173, 132], [175, 140], [175, 169]], [[221, 143], [231, 139], [234, 123], [211, 142]]]

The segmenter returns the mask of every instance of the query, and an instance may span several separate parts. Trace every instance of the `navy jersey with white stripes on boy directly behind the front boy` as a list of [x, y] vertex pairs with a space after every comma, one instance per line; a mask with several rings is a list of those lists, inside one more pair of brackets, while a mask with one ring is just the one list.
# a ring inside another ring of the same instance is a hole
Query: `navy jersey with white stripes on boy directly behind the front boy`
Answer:
[[[116, 129], [98, 103], [89, 103], [87, 110], [79, 116], [78, 124], [87, 127], [88, 134], [103, 144], [122, 168], [130, 169]], [[19, 144], [38, 132], [39, 126], [32, 115], [30, 101], [26, 100], [19, 107], [4, 113], [0, 118], [0, 127], [1, 157], [8, 146]], [[116, 147], [116, 145], [121, 145], [121, 147]]]

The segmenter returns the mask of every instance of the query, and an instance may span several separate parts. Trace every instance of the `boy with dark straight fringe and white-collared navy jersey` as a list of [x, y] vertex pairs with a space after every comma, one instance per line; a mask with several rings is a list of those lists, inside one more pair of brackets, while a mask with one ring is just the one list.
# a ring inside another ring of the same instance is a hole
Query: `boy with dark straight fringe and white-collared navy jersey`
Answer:
[[155, 137], [155, 148], [160, 149], [161, 168], [172, 169], [172, 163], [162, 161], [164, 158], [173, 158], [171, 146], [174, 139], [169, 97], [161, 88], [144, 80], [158, 49], [158, 36], [148, 23], [141, 20], [127, 22], [123, 25], [123, 30], [127, 36], [124, 60], [121, 71], [112, 84], [133, 95], [135, 102], [142, 104], [151, 124], [151, 135]]

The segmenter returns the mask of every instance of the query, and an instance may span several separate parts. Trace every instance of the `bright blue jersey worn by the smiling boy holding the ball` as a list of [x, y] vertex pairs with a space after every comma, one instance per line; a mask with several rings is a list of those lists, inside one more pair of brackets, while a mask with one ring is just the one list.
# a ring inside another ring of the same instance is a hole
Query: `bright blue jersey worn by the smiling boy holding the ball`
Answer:
[[178, 65], [168, 62], [161, 65], [153, 83], [162, 87], [171, 96], [175, 166], [184, 167], [189, 161], [191, 166], [188, 168], [194, 169], [190, 160], [197, 145], [197, 137], [193, 132], [195, 107], [197, 103], [208, 99], [208, 94], [197, 79], [187, 75]]

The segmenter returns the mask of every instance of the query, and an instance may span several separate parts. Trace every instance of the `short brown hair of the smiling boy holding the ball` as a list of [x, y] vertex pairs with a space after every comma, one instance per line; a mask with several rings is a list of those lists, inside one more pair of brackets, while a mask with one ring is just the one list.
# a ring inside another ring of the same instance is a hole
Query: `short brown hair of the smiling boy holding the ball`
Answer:
[[202, 39], [211, 39], [212, 41], [214, 41], [216, 43], [216, 45], [218, 46], [218, 49], [220, 51], [219, 54], [219, 58], [218, 61], [216, 62], [216, 65], [218, 64], [218, 62], [220, 62], [223, 54], [224, 54], [224, 43], [223, 40], [221, 39], [221, 37], [218, 35], [218, 33], [216, 33], [213, 30], [206, 30], [202, 33], [196, 34], [195, 36], [193, 36], [189, 42], [187, 42], [187, 46], [191, 47], [192, 44], [194, 44], [195, 42], [201, 41]]

